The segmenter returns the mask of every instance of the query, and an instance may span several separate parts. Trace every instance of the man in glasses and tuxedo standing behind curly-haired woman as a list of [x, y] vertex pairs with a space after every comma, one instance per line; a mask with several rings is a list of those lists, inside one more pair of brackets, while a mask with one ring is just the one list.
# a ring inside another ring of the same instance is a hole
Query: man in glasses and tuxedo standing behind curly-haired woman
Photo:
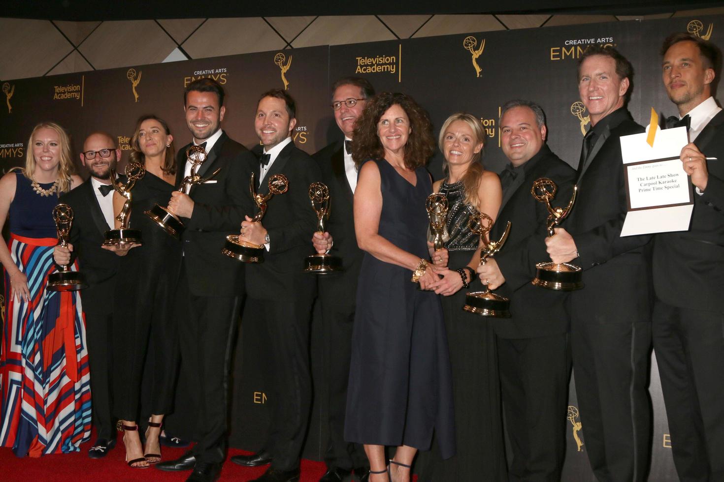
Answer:
[[[341, 482], [354, 470], [358, 478], [369, 473], [369, 462], [360, 444], [346, 442], [345, 410], [350, 374], [352, 325], [355, 321], [357, 278], [363, 251], [357, 246], [352, 200], [357, 187], [357, 169], [352, 160], [357, 118], [374, 88], [367, 79], [344, 77], [332, 85], [332, 111], [337, 126], [344, 134], [313, 157], [319, 164], [322, 181], [329, 187], [332, 208], [327, 233], [314, 233], [313, 244], [318, 253], [329, 251], [342, 258], [341, 273], [319, 277], [319, 300], [324, 325], [324, 369], [329, 391], [327, 426], [329, 440], [324, 462], [327, 473], [319, 482]], [[334, 233], [334, 238], [329, 233]]]

